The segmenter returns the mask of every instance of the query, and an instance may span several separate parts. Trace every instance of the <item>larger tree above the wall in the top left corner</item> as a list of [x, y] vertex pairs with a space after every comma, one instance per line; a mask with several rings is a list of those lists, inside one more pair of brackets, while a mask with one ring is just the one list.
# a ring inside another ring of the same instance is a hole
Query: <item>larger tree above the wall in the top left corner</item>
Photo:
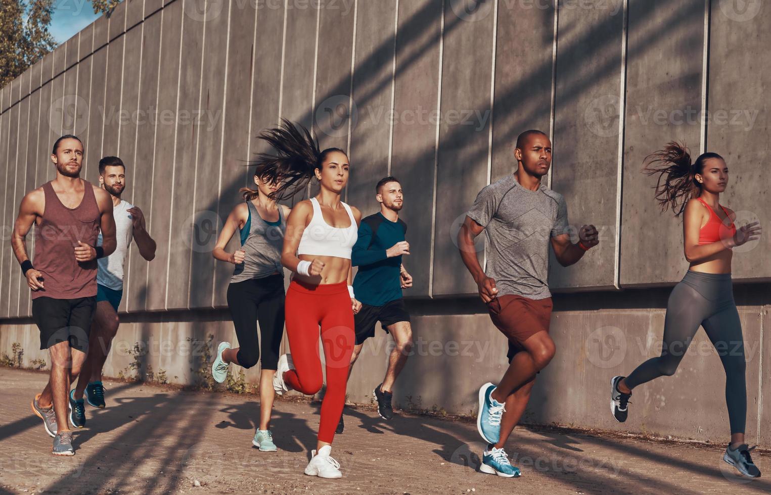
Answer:
[[52, 10], [53, 0], [0, 0], [0, 87], [56, 48]]

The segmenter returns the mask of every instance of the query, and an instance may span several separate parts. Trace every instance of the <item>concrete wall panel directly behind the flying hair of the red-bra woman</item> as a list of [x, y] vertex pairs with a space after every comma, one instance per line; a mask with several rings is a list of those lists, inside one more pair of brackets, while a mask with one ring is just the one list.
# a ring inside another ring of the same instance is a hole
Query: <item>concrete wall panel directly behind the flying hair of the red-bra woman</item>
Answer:
[[688, 267], [682, 217], [661, 212], [641, 166], [673, 140], [699, 156], [704, 15], [703, 0], [629, 2], [621, 286], [672, 283]]

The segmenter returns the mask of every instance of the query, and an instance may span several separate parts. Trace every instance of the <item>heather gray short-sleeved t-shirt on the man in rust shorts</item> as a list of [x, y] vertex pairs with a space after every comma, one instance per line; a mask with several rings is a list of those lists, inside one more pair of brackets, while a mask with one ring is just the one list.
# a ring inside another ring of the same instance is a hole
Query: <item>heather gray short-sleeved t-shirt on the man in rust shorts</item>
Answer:
[[485, 228], [485, 273], [499, 296], [551, 296], [549, 240], [569, 232], [561, 194], [544, 185], [530, 191], [510, 174], [482, 189], [466, 215]]

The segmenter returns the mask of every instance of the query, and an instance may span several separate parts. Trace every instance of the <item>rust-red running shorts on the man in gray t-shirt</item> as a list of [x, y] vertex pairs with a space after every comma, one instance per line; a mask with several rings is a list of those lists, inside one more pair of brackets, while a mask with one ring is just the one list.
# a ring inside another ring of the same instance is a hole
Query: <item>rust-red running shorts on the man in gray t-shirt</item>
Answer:
[[549, 331], [551, 298], [528, 299], [507, 294], [487, 303], [487, 311], [495, 326], [509, 339], [511, 362], [514, 354], [524, 350], [522, 343], [540, 331]]

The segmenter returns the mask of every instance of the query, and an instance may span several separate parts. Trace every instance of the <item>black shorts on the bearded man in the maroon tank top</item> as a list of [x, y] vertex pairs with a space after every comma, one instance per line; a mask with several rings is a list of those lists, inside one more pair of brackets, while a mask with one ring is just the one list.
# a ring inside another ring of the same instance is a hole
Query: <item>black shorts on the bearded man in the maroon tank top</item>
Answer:
[[40, 329], [40, 349], [69, 342], [72, 349], [89, 350], [91, 319], [96, 309], [96, 296], [79, 299], [32, 299], [32, 318]]

